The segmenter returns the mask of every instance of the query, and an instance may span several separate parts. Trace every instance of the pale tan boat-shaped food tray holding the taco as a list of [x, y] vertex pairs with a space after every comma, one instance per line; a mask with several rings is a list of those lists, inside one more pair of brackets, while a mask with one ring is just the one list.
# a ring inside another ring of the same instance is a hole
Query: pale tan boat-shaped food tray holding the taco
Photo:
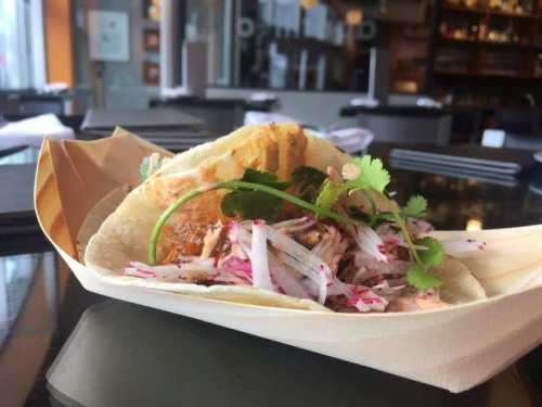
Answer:
[[[542, 226], [442, 238], [480, 239], [486, 251], [462, 260], [489, 298], [420, 313], [333, 314], [238, 304], [136, 287], [81, 264], [78, 246], [103, 219], [87, 215], [106, 194], [138, 179], [153, 151], [171, 154], [124, 130], [99, 141], [46, 140], [35, 185], [43, 232], [89, 291], [185, 315], [269, 340], [461, 392], [500, 372], [542, 339]], [[106, 200], [115, 209], [115, 199]], [[89, 227], [90, 226], [90, 227]], [[77, 241], [79, 239], [79, 241]]]

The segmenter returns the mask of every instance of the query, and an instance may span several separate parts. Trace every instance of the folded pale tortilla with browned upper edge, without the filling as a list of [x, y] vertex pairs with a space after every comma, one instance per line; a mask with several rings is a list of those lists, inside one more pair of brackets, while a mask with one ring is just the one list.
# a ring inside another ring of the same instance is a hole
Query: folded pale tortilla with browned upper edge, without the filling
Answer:
[[[294, 124], [246, 126], [215, 142], [178, 154], [133, 190], [127, 186], [112, 191], [88, 215], [79, 232], [78, 247], [85, 252], [87, 267], [105, 278], [126, 283], [238, 303], [328, 310], [310, 300], [250, 287], [157, 282], [119, 274], [130, 260], [146, 262], [152, 228], [163, 211], [183, 192], [209, 182], [241, 178], [247, 167], [275, 173], [281, 180], [288, 180], [299, 166], [307, 165], [321, 170], [332, 166], [340, 170], [349, 160], [347, 154], [327, 140], [307, 136]], [[220, 211], [224, 193], [205, 193], [181, 207], [170, 218], [168, 227], [164, 228], [158, 258], [172, 247], [188, 226], [225, 220]], [[92, 238], [89, 240], [90, 236]], [[452, 281], [450, 290], [446, 291], [449, 293], [448, 300], [457, 302], [454, 301], [454, 292], [461, 293], [461, 302], [485, 296], [480, 296], [483, 289], [468, 270], [465, 274], [460, 266], [452, 269], [462, 272], [451, 272], [451, 276], [442, 272], [446, 280], [450, 277]], [[476, 288], [470, 289], [466, 284], [475, 284]]]

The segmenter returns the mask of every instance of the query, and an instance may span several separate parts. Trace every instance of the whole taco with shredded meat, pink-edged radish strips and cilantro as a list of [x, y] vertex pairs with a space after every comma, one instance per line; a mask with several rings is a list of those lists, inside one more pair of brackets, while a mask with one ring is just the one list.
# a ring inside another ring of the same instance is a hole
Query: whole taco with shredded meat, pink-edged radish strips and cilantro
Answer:
[[341, 313], [486, 297], [455, 258], [483, 242], [431, 238], [425, 199], [396, 203], [378, 158], [351, 157], [295, 124], [153, 154], [141, 178], [89, 214], [95, 224], [120, 202], [82, 249], [91, 270], [185, 295]]

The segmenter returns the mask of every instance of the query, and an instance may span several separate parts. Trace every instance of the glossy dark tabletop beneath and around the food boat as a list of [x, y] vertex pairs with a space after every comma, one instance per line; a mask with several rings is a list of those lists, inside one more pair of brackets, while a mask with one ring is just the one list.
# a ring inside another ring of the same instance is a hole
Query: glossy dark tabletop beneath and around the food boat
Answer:
[[[386, 156], [388, 149], [374, 145], [372, 153]], [[424, 194], [430, 202], [428, 218], [440, 229], [542, 222], [539, 169], [513, 187], [390, 170], [398, 200]], [[16, 179], [1, 182], [5, 187]], [[107, 300], [85, 291], [46, 242], [22, 242], [15, 249], [20, 254], [0, 256], [2, 406], [541, 405], [542, 347], [490, 381], [451, 394], [190, 318]], [[50, 378], [63, 380], [48, 383], [48, 371]]]

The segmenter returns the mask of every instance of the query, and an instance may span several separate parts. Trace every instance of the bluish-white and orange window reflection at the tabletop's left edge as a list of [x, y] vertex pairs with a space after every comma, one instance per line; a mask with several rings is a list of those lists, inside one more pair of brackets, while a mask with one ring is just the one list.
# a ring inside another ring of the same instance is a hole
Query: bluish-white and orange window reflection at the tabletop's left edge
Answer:
[[67, 281], [53, 253], [0, 257], [0, 393], [23, 405], [51, 351]]

